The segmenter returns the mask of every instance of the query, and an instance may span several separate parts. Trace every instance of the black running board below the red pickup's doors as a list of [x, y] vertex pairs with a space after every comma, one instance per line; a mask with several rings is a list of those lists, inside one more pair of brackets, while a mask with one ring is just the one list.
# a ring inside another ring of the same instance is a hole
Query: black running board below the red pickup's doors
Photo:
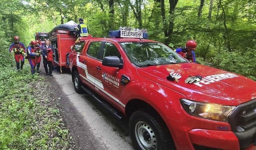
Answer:
[[100, 105], [102, 105], [105, 109], [107, 109], [111, 114], [113, 114], [116, 118], [122, 119], [124, 118], [124, 115], [118, 111], [115, 107], [110, 105], [108, 102], [106, 102], [102, 97], [100, 97], [98, 94], [94, 93], [91, 89], [85, 87], [84, 85], [81, 86], [81, 88], [88, 93], [92, 98], [94, 98]]

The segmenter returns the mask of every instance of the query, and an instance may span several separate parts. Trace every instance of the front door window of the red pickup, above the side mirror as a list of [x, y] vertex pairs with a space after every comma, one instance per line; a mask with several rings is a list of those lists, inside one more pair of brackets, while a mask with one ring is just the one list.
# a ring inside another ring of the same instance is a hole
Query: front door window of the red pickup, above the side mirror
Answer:
[[120, 53], [114, 44], [106, 42], [104, 44], [102, 57], [100, 59], [102, 60], [104, 57], [108, 56], [120, 57]]

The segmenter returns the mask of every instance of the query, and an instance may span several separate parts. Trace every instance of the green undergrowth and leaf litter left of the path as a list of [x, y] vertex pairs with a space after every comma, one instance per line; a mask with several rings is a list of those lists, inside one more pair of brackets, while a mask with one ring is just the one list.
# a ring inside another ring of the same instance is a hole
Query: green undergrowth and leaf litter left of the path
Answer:
[[0, 51], [0, 150], [76, 149], [50, 85], [30, 74], [28, 61], [18, 72], [6, 42]]

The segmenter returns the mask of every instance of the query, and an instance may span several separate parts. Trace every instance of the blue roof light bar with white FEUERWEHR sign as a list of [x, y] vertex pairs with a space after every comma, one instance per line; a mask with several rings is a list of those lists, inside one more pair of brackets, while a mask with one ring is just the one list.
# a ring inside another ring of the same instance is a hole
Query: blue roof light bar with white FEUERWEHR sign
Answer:
[[109, 37], [114, 37], [114, 38], [148, 39], [148, 33], [142, 33], [140, 31], [125, 31], [125, 30], [109, 31], [108, 36]]

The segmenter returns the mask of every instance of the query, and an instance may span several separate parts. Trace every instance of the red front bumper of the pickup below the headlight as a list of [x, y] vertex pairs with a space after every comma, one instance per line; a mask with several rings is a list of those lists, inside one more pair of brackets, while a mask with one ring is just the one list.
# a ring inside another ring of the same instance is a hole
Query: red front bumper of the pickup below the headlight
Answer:
[[250, 139], [253, 133], [238, 136], [227, 122], [187, 117], [190, 119], [166, 121], [177, 150], [256, 150], [251, 140], [241, 147], [245, 143], [242, 139]]

